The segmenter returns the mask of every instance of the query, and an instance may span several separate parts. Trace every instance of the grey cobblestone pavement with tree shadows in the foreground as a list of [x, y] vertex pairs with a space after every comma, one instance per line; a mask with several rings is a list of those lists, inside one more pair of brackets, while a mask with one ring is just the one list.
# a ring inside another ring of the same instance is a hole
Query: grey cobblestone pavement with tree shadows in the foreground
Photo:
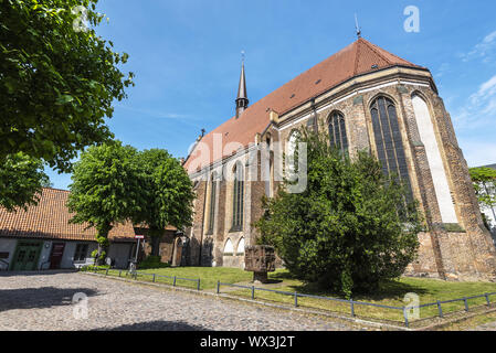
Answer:
[[[78, 292], [87, 296], [87, 319], [84, 319], [85, 301], [72, 303]], [[297, 312], [91, 275], [45, 272], [0, 275], [0, 330], [340, 331], [352, 328]]]

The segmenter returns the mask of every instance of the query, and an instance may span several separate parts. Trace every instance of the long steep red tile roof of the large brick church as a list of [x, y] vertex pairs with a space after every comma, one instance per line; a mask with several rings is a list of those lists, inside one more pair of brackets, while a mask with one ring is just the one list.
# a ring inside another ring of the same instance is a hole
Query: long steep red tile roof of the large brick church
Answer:
[[359, 39], [253, 104], [240, 118], [233, 117], [204, 136], [201, 142], [209, 147], [210, 156], [200, 158], [200, 148], [197, 147], [184, 168], [192, 173], [200, 164], [203, 168], [232, 154], [233, 150], [223, 151], [223, 156], [213, 156], [214, 133], [222, 136], [222, 150], [230, 142], [247, 147], [254, 142], [255, 135], [268, 126], [268, 109], [282, 115], [355, 76], [398, 65], [423, 68]]

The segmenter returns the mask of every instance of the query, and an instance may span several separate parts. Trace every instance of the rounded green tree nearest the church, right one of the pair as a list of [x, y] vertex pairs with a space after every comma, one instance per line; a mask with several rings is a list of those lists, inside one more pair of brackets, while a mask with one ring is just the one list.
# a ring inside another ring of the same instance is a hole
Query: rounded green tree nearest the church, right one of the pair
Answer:
[[171, 225], [181, 229], [192, 224], [194, 193], [181, 163], [166, 150], [151, 149], [138, 153], [138, 164], [146, 175], [141, 214], [136, 222], [148, 225], [152, 238], [151, 256], [159, 255], [163, 231]]

